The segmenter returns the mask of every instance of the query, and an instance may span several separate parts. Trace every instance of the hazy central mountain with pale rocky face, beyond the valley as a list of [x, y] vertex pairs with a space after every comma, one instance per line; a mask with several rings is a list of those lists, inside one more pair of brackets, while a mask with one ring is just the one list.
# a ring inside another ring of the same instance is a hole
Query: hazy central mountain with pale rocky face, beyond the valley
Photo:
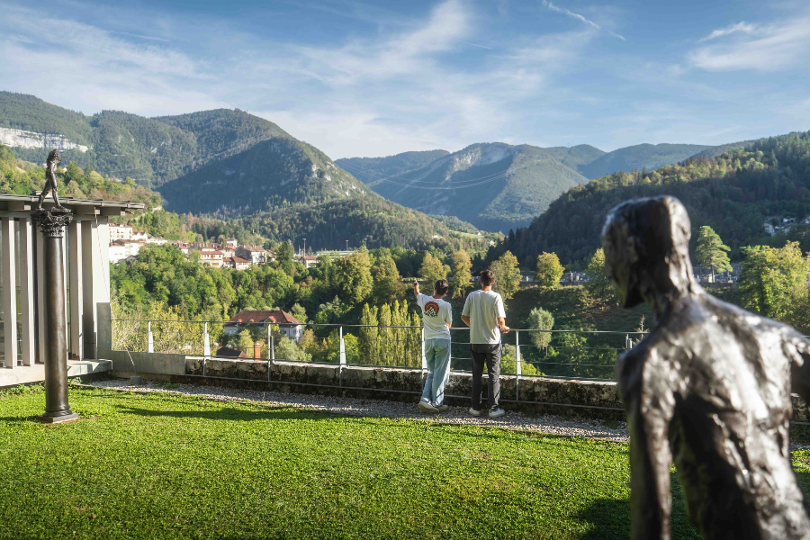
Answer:
[[587, 181], [542, 148], [473, 144], [428, 166], [369, 182], [386, 199], [479, 229], [525, 225], [563, 191]]

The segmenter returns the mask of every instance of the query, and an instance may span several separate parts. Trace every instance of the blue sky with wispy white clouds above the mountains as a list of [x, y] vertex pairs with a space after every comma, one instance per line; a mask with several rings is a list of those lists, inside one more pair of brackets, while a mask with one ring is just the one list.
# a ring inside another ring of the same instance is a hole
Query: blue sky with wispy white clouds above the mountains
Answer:
[[0, 0], [0, 49], [0, 89], [239, 108], [333, 158], [810, 129], [806, 0]]

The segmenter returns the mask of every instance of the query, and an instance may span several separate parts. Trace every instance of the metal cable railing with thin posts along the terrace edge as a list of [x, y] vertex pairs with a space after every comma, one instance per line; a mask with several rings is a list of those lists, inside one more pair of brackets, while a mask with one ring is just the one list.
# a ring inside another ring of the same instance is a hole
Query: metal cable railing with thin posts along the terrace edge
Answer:
[[[618, 356], [643, 335], [639, 331], [511, 329], [501, 336], [501, 374], [613, 380]], [[196, 356], [203, 362], [228, 358], [428, 368], [425, 333], [416, 326], [113, 319], [112, 348]], [[468, 328], [451, 329], [450, 359], [453, 371], [471, 371]]]

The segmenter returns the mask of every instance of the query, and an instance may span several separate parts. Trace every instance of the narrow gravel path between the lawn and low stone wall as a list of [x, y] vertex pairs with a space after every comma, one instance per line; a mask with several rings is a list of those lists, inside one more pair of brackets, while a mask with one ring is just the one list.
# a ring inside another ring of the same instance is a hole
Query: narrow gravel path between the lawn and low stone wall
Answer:
[[144, 381], [131, 385], [128, 379], [111, 379], [94, 381], [90, 386], [131, 390], [136, 392], [167, 392], [199, 396], [221, 401], [255, 401], [273, 407], [299, 407], [309, 410], [325, 410], [334, 414], [365, 417], [388, 417], [392, 419], [419, 419], [446, 424], [464, 424], [473, 426], [497, 427], [537, 431], [565, 437], [590, 437], [615, 442], [627, 442], [627, 425], [615, 422], [615, 427], [608, 427], [598, 420], [562, 419], [553, 415], [531, 417], [519, 412], [507, 410], [500, 419], [489, 419], [486, 416], [472, 417], [467, 407], [451, 407], [437, 415], [427, 415], [417, 409], [413, 403], [383, 400], [359, 400], [356, 398], [338, 398], [333, 396], [304, 395], [281, 392], [259, 392], [239, 390], [220, 386], [195, 386], [193, 384], [171, 385], [171, 390], [164, 388], [164, 383]]

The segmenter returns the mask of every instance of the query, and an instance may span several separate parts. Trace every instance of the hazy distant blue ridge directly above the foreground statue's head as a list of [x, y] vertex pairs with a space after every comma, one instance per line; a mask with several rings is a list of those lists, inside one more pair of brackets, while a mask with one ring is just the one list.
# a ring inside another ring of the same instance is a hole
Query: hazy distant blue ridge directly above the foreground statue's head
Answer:
[[603, 154], [590, 163], [578, 166], [577, 170], [587, 178], [599, 178], [618, 171], [629, 173], [633, 169], [653, 170], [683, 161], [707, 148], [711, 147], [698, 144], [637, 144]]

